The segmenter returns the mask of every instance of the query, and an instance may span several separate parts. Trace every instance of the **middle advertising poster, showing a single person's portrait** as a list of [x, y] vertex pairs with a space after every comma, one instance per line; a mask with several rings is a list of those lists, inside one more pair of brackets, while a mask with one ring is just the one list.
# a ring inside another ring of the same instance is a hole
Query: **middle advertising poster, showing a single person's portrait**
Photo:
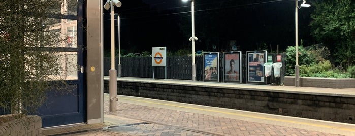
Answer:
[[241, 82], [241, 52], [224, 52], [224, 82]]

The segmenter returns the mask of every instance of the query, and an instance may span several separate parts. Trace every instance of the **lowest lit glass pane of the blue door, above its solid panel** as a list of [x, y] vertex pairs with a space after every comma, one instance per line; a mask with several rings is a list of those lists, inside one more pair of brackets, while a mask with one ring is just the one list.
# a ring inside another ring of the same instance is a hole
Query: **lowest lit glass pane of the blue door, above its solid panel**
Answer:
[[76, 80], [80, 72], [77, 55], [77, 52], [26, 52], [25, 79], [28, 81]]

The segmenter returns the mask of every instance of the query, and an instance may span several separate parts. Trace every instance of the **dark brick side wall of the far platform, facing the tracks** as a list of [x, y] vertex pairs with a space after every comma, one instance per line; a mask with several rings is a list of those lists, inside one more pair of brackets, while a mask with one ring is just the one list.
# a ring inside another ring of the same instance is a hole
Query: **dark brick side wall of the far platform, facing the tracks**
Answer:
[[[104, 82], [105, 93], [109, 93], [109, 81]], [[118, 81], [117, 93], [355, 124], [355, 96], [325, 96], [279, 90], [203, 87], [184, 84], [166, 85], [139, 81]]]

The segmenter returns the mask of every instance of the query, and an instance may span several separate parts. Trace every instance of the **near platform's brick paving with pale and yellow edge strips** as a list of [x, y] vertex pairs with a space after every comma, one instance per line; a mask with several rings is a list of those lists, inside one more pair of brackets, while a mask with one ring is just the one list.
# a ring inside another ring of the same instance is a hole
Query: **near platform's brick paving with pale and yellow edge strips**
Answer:
[[355, 135], [355, 125], [118, 96], [101, 124], [44, 129], [44, 135]]

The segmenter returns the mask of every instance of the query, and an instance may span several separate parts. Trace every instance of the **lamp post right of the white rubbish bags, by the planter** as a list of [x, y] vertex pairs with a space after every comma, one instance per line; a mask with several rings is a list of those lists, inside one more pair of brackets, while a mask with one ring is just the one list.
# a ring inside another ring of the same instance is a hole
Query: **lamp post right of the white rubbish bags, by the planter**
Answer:
[[306, 1], [303, 0], [303, 3], [298, 7], [298, 1], [296, 0], [295, 7], [295, 31], [296, 31], [296, 65], [295, 65], [295, 87], [300, 87], [300, 66], [298, 65], [298, 9], [302, 7], [311, 7], [311, 5], [306, 4]]

